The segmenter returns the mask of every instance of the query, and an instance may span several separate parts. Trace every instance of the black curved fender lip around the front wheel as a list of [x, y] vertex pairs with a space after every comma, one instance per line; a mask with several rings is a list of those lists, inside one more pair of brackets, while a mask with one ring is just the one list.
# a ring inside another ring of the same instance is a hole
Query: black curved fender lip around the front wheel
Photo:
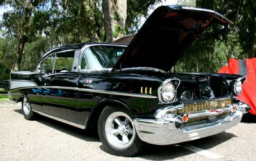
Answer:
[[123, 107], [127, 110], [127, 112], [130, 112], [132, 115], [132, 110], [129, 108], [124, 102], [121, 102], [120, 100], [113, 100], [113, 99], [104, 99], [100, 100], [92, 109], [90, 114], [88, 115], [88, 118], [86, 119], [86, 128], [97, 128], [99, 116], [100, 113], [103, 111], [103, 109], [107, 106], [118, 106]]

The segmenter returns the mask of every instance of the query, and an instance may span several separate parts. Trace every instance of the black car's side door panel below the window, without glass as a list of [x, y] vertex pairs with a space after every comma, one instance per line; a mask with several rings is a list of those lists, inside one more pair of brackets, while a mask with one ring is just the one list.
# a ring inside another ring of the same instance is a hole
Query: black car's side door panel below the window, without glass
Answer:
[[77, 121], [76, 72], [54, 73], [44, 78], [44, 112], [74, 123]]

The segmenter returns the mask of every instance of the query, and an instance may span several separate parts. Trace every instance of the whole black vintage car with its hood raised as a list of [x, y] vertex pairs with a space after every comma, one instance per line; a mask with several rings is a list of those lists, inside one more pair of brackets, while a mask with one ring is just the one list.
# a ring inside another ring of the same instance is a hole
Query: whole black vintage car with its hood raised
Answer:
[[210, 24], [231, 24], [212, 10], [161, 6], [129, 46], [78, 43], [47, 52], [35, 72], [12, 72], [10, 99], [24, 118], [42, 114], [98, 128], [114, 155], [144, 142], [175, 144], [218, 134], [241, 121], [241, 75], [177, 73], [172, 68]]

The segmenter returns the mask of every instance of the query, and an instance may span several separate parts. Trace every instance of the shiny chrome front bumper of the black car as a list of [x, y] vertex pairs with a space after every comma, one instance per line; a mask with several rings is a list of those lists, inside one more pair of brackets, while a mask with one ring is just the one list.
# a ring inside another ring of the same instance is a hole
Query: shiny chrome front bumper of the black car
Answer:
[[[232, 111], [234, 105], [236, 106], [236, 110]], [[237, 125], [241, 121], [243, 114], [248, 112], [249, 109], [250, 107], [247, 104], [239, 102], [223, 108], [223, 111], [230, 110], [230, 114], [205, 121], [184, 124], [180, 123], [181, 116], [163, 116], [161, 119], [135, 118], [134, 125], [142, 141], [159, 145], [177, 144], [179, 142], [192, 141], [224, 132], [228, 128]], [[211, 114], [211, 112], [197, 112], [191, 114], [191, 117], [207, 116], [207, 114]]]

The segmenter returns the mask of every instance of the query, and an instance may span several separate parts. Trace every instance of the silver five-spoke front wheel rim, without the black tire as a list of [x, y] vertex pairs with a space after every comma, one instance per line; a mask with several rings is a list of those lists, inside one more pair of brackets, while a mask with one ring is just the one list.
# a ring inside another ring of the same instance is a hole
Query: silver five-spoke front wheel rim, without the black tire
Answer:
[[135, 129], [131, 118], [124, 112], [113, 112], [106, 119], [108, 142], [116, 148], [127, 148], [134, 141]]

